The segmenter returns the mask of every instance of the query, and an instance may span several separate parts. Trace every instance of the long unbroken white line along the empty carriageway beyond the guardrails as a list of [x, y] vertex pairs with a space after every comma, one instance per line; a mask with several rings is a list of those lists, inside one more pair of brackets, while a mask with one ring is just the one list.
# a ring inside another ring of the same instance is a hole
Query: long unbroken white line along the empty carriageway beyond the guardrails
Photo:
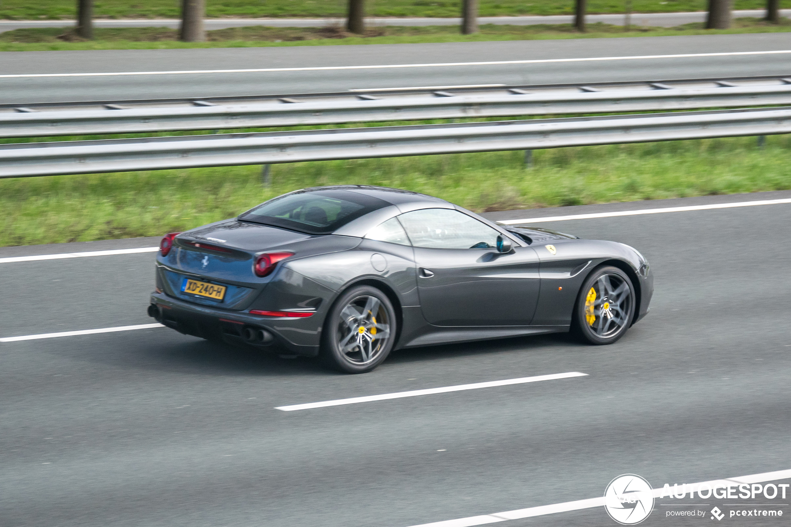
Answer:
[[244, 70], [172, 70], [172, 71], [120, 71], [108, 73], [80, 74], [6, 74], [0, 78], [28, 77], [103, 77], [114, 75], [181, 75], [181, 74], [217, 74], [217, 73], [259, 73], [267, 71], [320, 71], [320, 70], [382, 70], [388, 68], [429, 68], [447, 66], [497, 66], [501, 64], [543, 64], [543, 63], [585, 63], [600, 60], [640, 60], [640, 59], [684, 59], [694, 57], [726, 57], [738, 55], [775, 55], [791, 53], [791, 50], [775, 51], [730, 51], [724, 53], [679, 53], [676, 55], [635, 55], [627, 57], [588, 57], [585, 59], [532, 59], [532, 60], [498, 60], [477, 63], [430, 63], [430, 64], [380, 64], [376, 66], [311, 66], [295, 68], [247, 68]]

